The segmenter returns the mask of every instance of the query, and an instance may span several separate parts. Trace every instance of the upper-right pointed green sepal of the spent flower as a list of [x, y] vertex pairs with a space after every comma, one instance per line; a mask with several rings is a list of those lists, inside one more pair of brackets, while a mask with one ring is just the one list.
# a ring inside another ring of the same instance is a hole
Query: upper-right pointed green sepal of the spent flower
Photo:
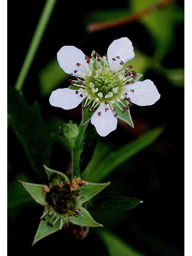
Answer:
[[108, 183], [88, 183], [88, 185], [82, 186], [81, 188], [78, 188], [76, 190], [80, 190], [80, 200], [79, 202], [83, 204], [84, 202], [87, 202], [92, 197], [94, 197], [96, 194], [98, 194], [101, 190], [106, 188], [110, 182]]

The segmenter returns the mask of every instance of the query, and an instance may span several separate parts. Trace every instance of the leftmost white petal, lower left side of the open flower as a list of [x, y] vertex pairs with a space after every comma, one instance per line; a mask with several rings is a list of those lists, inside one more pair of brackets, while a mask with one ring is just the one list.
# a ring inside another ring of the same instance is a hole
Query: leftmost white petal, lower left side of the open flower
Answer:
[[52, 92], [49, 102], [52, 106], [67, 110], [76, 108], [85, 98], [85, 96], [80, 97], [80, 92], [78, 94], [75, 92], [75, 90], [71, 90], [69, 88], [57, 89]]

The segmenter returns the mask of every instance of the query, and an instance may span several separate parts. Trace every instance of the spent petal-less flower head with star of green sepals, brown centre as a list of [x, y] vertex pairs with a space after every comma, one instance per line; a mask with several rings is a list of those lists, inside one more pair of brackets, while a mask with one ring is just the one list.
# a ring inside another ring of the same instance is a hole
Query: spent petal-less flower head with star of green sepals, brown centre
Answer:
[[34, 200], [45, 207], [33, 244], [61, 230], [64, 225], [68, 226], [69, 223], [88, 227], [102, 226], [84, 207], [85, 202], [98, 194], [110, 182], [94, 184], [84, 182], [80, 178], [74, 178], [70, 182], [65, 174], [46, 166], [44, 168], [48, 175], [49, 186], [21, 181]]

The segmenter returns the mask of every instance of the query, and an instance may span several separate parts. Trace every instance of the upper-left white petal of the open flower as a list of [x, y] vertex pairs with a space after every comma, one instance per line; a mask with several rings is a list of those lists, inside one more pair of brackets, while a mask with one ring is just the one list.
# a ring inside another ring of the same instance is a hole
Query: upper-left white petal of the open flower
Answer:
[[[85, 60], [85, 54], [82, 50], [76, 48], [75, 46], [63, 46], [57, 53], [57, 60], [59, 62], [59, 66], [66, 72], [67, 74], [73, 74], [77, 76], [79, 74], [87, 74], [82, 66], [77, 66], [77, 63], [84, 64], [87, 72], [90, 71], [89, 65]], [[74, 73], [74, 70], [78, 70]]]

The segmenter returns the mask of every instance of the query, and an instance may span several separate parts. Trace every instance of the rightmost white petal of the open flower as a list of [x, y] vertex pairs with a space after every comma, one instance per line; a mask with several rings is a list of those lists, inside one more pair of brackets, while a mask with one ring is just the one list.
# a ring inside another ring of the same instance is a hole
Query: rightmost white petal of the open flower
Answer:
[[[134, 92], [130, 92], [130, 90], [134, 90]], [[131, 102], [139, 106], [152, 105], [160, 98], [156, 86], [148, 79], [129, 84], [124, 88], [124, 91], [127, 92], [127, 97], [131, 99]]]

